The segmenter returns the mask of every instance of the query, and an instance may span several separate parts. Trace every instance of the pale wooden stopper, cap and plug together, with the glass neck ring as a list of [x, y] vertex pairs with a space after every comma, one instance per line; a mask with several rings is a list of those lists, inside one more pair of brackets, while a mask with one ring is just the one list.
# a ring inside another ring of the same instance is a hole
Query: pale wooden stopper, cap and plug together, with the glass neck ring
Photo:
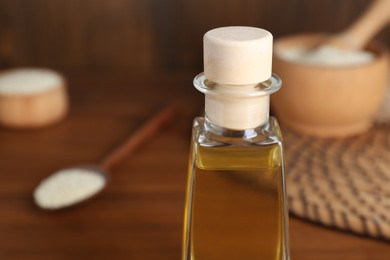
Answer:
[[[204, 79], [195, 87], [206, 94], [205, 112], [215, 125], [253, 129], [268, 121], [269, 95], [279, 89], [272, 76], [272, 35], [253, 27], [222, 27], [204, 36]], [[203, 81], [204, 80], [204, 81]], [[269, 81], [269, 86], [263, 84]], [[213, 86], [208, 87], [207, 81]]]

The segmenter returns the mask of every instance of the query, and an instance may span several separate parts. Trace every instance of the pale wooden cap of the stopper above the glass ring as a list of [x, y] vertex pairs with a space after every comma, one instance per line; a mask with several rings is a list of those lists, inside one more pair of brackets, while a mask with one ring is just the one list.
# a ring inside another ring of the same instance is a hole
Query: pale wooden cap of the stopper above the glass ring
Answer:
[[272, 34], [255, 27], [230, 26], [203, 38], [204, 73], [221, 84], [244, 85], [271, 77]]

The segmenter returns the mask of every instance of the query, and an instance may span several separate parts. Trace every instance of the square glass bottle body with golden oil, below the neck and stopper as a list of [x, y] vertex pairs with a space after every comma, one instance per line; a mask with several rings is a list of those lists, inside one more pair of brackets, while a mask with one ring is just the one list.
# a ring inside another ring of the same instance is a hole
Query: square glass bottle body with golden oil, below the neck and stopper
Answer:
[[193, 125], [183, 259], [288, 258], [282, 137], [274, 118], [233, 131]]

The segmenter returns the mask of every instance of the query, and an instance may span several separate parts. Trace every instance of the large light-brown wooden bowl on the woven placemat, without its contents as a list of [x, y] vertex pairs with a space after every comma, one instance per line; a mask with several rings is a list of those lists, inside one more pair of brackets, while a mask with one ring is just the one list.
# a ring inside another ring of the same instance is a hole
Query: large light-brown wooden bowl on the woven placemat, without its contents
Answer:
[[[323, 35], [290, 36], [278, 48], [314, 47]], [[274, 55], [273, 70], [283, 87], [271, 96], [273, 112], [282, 124], [301, 133], [341, 137], [369, 129], [384, 101], [389, 83], [389, 53], [372, 42], [367, 50], [375, 59], [362, 65], [331, 67], [295, 63]]]

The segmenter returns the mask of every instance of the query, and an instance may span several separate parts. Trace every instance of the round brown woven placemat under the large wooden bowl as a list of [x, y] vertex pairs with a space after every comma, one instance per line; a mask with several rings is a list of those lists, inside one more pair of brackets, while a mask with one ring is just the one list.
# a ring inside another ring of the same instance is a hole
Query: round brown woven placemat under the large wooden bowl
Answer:
[[390, 124], [342, 139], [282, 130], [290, 212], [390, 240]]

